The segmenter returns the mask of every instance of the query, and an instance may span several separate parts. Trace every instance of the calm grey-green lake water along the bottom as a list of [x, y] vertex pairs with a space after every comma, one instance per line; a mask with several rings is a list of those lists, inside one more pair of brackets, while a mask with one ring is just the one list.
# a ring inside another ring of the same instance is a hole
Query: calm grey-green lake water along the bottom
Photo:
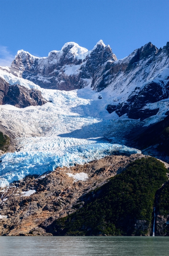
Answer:
[[0, 256], [169, 256], [169, 237], [0, 237]]

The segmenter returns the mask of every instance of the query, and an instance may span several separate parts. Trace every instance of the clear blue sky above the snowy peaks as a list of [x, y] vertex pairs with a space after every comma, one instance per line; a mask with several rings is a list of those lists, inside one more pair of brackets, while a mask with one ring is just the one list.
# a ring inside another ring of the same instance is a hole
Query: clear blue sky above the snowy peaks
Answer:
[[169, 0], [0, 0], [0, 65], [23, 49], [48, 56], [66, 42], [93, 49], [100, 39], [117, 58], [169, 41]]

